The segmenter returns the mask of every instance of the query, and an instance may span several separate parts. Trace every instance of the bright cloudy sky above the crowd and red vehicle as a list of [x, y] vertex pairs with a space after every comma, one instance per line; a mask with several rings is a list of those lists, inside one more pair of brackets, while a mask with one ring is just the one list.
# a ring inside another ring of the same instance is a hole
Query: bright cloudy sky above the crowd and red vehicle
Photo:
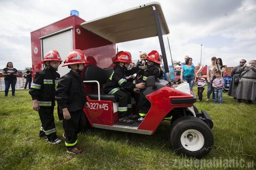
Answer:
[[[0, 68], [12, 61], [17, 69], [31, 66], [30, 32], [66, 18], [70, 10], [78, 10], [82, 19], [90, 21], [151, 1], [5, 1], [0, 0]], [[193, 63], [209, 64], [212, 56], [223, 64], [238, 65], [240, 59], [256, 59], [255, 0], [166, 0], [162, 6], [170, 34], [164, 36], [170, 64], [169, 37], [174, 61], [189, 55]], [[139, 51], [160, 50], [158, 38], [118, 44], [119, 50], [130, 51], [133, 60]]]

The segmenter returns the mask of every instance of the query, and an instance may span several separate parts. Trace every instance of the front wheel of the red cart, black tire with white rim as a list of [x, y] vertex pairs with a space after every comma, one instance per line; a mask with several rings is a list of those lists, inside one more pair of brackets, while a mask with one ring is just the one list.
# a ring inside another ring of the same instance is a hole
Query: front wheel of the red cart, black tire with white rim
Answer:
[[195, 158], [207, 155], [214, 143], [209, 126], [201, 119], [192, 116], [184, 116], [175, 120], [172, 123], [170, 138], [171, 145], [177, 154]]

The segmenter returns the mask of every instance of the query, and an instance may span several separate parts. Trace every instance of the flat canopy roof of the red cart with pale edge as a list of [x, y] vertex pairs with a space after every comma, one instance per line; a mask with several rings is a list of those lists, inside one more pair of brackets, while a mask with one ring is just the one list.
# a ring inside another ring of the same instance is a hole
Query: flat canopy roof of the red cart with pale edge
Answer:
[[112, 43], [137, 40], [157, 36], [153, 6], [158, 11], [162, 34], [169, 33], [161, 5], [157, 2], [140, 5], [129, 10], [81, 23], [89, 30]]

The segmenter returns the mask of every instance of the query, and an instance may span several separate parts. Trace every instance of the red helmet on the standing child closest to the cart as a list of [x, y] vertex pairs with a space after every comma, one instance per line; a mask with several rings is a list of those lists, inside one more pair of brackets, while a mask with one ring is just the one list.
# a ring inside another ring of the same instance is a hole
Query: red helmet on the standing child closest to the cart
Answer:
[[70, 65], [70, 64], [82, 64], [82, 63], [89, 63], [89, 62], [86, 60], [85, 55], [82, 52], [82, 50], [74, 49], [68, 54], [62, 67]]

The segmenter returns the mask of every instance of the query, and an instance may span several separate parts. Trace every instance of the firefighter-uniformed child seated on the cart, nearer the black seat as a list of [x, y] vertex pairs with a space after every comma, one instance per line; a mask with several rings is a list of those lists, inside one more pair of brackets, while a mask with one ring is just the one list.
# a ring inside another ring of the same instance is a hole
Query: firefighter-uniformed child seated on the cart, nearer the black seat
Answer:
[[136, 119], [138, 116], [131, 114], [131, 92], [139, 91], [140, 88], [145, 87], [145, 84], [133, 84], [126, 80], [126, 77], [139, 71], [138, 67], [127, 70], [129, 64], [132, 63], [132, 56], [129, 52], [121, 51], [117, 53], [114, 63], [116, 66], [106, 83], [104, 92], [119, 98], [118, 121], [126, 124], [133, 123], [133, 119]]

